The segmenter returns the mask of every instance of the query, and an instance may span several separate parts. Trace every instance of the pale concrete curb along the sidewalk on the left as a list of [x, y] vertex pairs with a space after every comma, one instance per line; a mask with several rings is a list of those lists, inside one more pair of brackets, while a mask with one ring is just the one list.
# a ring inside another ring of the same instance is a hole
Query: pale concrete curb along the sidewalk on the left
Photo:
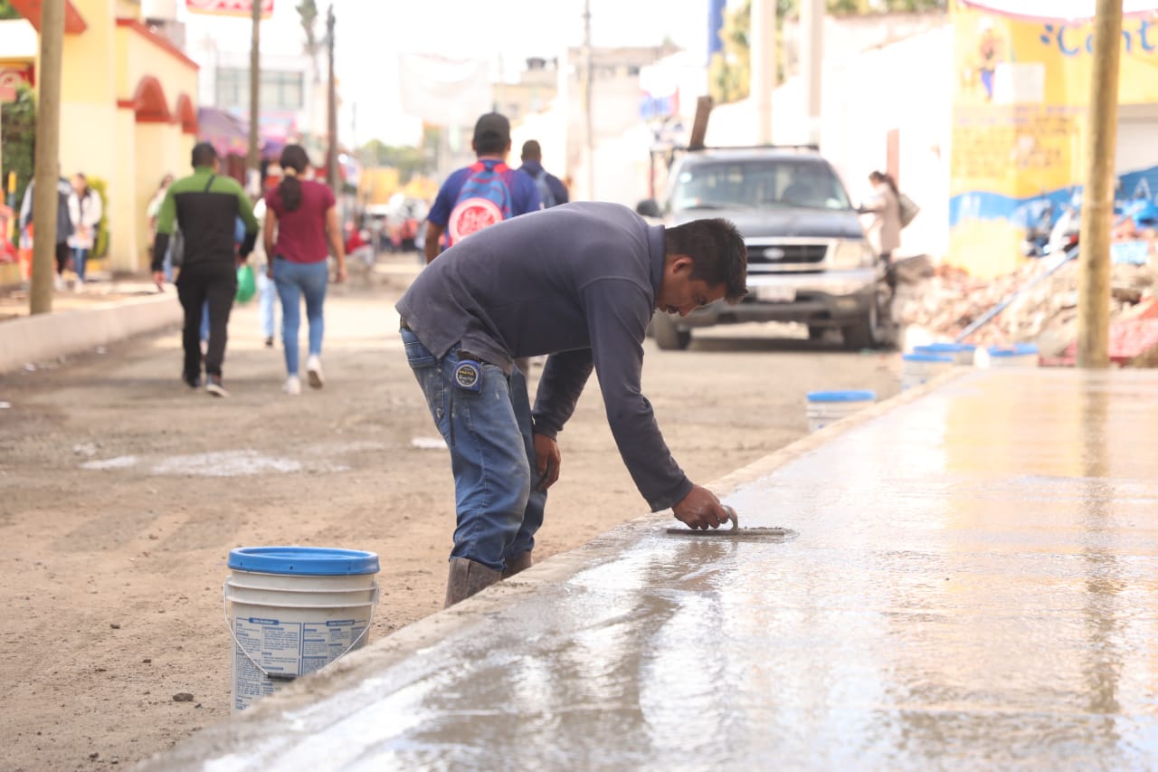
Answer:
[[181, 304], [171, 292], [10, 319], [0, 322], [0, 374], [151, 333], [181, 319]]

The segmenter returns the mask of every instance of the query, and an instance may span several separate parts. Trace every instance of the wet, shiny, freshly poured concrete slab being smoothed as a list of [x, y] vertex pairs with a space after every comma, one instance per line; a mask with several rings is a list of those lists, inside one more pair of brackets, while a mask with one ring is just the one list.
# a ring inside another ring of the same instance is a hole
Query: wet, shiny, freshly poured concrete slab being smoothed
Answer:
[[146, 769], [1153, 769], [1158, 373], [988, 370], [731, 475]]

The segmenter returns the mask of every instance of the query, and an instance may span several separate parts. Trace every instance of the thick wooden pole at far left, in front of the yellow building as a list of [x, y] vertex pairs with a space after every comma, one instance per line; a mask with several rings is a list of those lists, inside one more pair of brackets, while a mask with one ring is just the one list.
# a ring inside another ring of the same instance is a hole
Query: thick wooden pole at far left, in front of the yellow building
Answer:
[[41, 3], [39, 101], [36, 105], [36, 159], [32, 180], [31, 314], [52, 312], [57, 255], [57, 180], [60, 177], [60, 59], [65, 46], [65, 0]]

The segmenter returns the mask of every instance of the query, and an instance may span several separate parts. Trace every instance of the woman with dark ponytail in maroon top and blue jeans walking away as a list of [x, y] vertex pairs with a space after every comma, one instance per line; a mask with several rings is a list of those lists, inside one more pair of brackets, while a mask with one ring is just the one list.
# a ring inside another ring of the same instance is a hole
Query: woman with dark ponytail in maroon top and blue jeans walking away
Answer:
[[286, 356], [284, 388], [287, 394], [301, 393], [298, 328], [303, 297], [309, 320], [306, 374], [314, 388], [321, 388], [325, 383], [322, 374], [322, 335], [325, 327], [325, 290], [330, 281], [327, 243], [337, 262], [335, 282], [346, 281], [346, 254], [337, 202], [328, 185], [305, 179], [309, 166], [309, 156], [301, 145], [286, 145], [281, 151], [284, 177], [274, 190], [266, 194], [262, 231], [265, 253], [273, 256], [270, 270], [281, 299], [281, 344]]

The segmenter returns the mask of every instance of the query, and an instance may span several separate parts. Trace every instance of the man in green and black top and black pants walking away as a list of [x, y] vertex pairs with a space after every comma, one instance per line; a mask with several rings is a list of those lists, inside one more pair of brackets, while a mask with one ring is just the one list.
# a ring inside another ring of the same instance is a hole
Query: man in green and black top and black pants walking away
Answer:
[[[185, 312], [182, 334], [184, 369], [182, 378], [191, 388], [200, 386], [201, 311], [208, 304], [210, 341], [205, 351], [205, 389], [213, 396], [228, 396], [221, 379], [229, 312], [237, 292], [237, 267], [254, 249], [257, 220], [245, 191], [233, 177], [219, 174], [221, 161], [208, 143], [192, 152], [193, 174], [169, 185], [156, 221], [153, 243], [153, 281], [164, 282], [164, 255], [174, 226], [181, 228], [184, 256], [177, 275], [177, 298]], [[240, 250], [234, 245], [237, 218], [244, 224]]]

